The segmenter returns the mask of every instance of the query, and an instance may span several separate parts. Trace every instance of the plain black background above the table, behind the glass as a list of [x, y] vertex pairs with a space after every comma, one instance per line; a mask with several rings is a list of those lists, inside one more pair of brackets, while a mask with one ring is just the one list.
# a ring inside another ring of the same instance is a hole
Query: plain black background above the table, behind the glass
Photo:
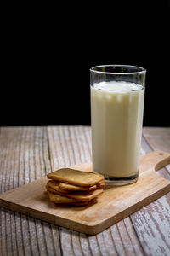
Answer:
[[167, 1], [10, 6], [0, 125], [90, 125], [89, 68], [144, 67], [144, 126], [170, 126]]

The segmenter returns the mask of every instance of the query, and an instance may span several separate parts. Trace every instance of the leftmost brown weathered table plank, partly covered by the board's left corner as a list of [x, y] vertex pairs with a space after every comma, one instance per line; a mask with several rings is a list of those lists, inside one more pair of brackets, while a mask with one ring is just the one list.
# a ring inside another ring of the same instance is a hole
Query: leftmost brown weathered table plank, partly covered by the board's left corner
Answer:
[[[0, 191], [8, 191], [51, 172], [46, 127], [1, 127]], [[59, 230], [1, 207], [1, 255], [60, 255]]]

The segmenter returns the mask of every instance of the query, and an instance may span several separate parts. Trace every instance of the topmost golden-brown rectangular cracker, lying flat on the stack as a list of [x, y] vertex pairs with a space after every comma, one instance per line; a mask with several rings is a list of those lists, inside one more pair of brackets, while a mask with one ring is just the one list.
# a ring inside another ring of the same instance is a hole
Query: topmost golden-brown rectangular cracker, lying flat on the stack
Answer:
[[59, 182], [69, 183], [81, 187], [91, 187], [104, 179], [103, 175], [94, 172], [82, 172], [69, 168], [48, 173], [48, 178]]

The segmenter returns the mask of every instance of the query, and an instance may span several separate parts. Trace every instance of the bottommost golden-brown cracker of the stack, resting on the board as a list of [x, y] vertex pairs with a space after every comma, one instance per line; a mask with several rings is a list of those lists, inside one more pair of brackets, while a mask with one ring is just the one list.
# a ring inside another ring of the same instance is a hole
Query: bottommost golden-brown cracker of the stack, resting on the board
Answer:
[[[49, 191], [48, 191], [48, 196], [49, 196], [50, 201], [53, 201], [54, 203], [57, 203], [57, 204], [72, 204], [72, 203], [77, 204], [78, 202], [80, 203], [80, 201], [77, 201], [74, 198], [69, 198], [69, 197], [66, 197], [65, 195], [53, 194]], [[85, 203], [85, 201], [84, 201], [84, 203]]]

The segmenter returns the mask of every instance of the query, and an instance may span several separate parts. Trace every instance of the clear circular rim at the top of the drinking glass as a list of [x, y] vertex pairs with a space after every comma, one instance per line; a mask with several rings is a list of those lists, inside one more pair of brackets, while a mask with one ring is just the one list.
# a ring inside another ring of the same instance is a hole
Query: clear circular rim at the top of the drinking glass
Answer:
[[[105, 71], [99, 71], [99, 70], [95, 70], [95, 68], [97, 67], [127, 67], [127, 68], [138, 68], [140, 69], [139, 71], [134, 71], [134, 72], [105, 72]], [[98, 65], [98, 66], [94, 66], [90, 68], [90, 72], [93, 73], [100, 73], [100, 74], [113, 74], [113, 75], [126, 75], [126, 74], [139, 74], [139, 73], [146, 73], [146, 69], [144, 67], [139, 67], [139, 66], [133, 66], [133, 65], [122, 65], [122, 64], [108, 64], [108, 65]]]

